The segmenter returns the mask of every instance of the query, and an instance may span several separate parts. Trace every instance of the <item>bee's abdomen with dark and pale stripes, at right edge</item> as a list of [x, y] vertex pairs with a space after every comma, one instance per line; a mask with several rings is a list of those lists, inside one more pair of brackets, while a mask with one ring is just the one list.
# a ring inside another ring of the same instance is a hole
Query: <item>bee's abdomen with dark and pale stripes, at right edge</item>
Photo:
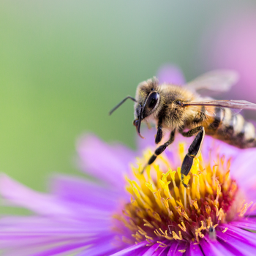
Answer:
[[256, 147], [255, 126], [229, 108], [214, 108], [215, 116], [207, 118], [203, 125], [206, 134], [238, 148]]

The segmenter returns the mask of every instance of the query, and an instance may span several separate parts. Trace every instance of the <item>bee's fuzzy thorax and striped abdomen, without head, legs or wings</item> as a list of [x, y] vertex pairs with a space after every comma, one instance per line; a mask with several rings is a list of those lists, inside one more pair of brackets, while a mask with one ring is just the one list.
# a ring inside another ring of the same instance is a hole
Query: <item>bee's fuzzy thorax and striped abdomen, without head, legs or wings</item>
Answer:
[[[192, 93], [181, 86], [159, 86], [161, 102], [159, 108], [153, 113], [151, 119], [158, 123], [162, 119], [164, 129], [182, 131], [203, 126], [206, 135], [224, 141], [238, 148], [256, 147], [255, 126], [245, 121], [241, 114], [233, 114], [230, 108], [187, 106], [176, 108], [176, 100], [183, 102], [200, 101], [204, 98]], [[206, 114], [211, 113], [211, 115]]]

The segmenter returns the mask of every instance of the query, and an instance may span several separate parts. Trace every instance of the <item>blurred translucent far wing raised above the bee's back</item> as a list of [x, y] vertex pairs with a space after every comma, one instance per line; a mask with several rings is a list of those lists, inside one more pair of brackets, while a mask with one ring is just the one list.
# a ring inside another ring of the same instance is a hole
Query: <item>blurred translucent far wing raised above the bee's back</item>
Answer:
[[228, 69], [219, 69], [207, 72], [195, 80], [187, 83], [188, 89], [195, 91], [206, 89], [210, 91], [229, 91], [230, 88], [238, 81], [237, 72]]

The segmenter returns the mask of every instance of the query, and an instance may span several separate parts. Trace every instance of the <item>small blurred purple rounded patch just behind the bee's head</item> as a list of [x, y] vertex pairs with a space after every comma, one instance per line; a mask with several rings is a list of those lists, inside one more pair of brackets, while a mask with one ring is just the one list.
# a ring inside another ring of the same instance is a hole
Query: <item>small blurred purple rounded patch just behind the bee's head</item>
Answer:
[[165, 64], [160, 67], [157, 72], [157, 78], [159, 83], [171, 83], [175, 85], [183, 85], [185, 83], [181, 69], [173, 64]]

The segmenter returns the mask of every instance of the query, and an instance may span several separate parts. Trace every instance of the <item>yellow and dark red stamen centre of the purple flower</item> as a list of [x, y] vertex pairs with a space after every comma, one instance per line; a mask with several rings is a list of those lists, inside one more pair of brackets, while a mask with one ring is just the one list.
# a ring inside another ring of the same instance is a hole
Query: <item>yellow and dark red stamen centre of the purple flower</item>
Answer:
[[[148, 246], [166, 246], [173, 239], [200, 244], [201, 239], [213, 237], [213, 229], [225, 233], [227, 228], [219, 225], [243, 217], [252, 206], [252, 202], [238, 202], [238, 185], [230, 176], [230, 159], [225, 156], [214, 159], [214, 165], [204, 161], [201, 154], [196, 157], [184, 178], [186, 188], [181, 183], [181, 168], [173, 168], [166, 154], [141, 174], [151, 154], [148, 150], [137, 159], [137, 167], [131, 167], [132, 176], [126, 177], [131, 200], [114, 216], [124, 227], [122, 241], [147, 241]], [[180, 144], [176, 157], [183, 159], [184, 144]]]

